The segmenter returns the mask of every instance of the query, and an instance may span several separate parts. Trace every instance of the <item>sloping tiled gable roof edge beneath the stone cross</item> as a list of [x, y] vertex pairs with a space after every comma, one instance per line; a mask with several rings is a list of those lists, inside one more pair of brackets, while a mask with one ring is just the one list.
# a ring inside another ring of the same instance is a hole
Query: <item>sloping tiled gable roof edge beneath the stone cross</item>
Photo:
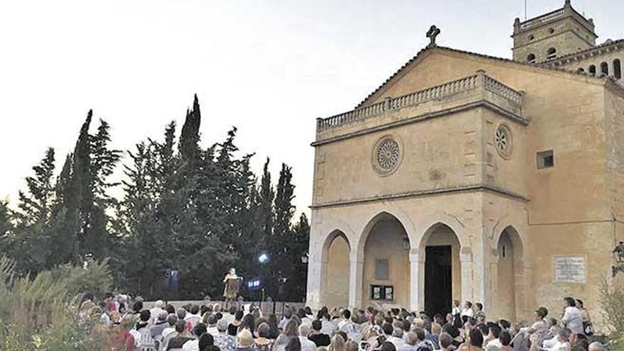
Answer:
[[[401, 74], [406, 72], [406, 69], [409, 66], [411, 66], [414, 62], [422, 59], [423, 55], [428, 54], [429, 52], [433, 52], [433, 50], [442, 50], [442, 51], [447, 51], [447, 52], [455, 52], [455, 53], [459, 53], [459, 54], [462, 54], [462, 55], [470, 55], [470, 56], [484, 58], [486, 60], [493, 60], [493, 61], [495, 60], [495, 61], [498, 61], [498, 62], [503, 62], [503, 63], [507, 63], [507, 64], [511, 64], [511, 65], [518, 65], [520, 67], [527, 67], [529, 69], [536, 69], [536, 70], [550, 71], [550, 72], [561, 72], [561, 73], [569, 74], [571, 76], [576, 76], [576, 77], [584, 76], [584, 77], [587, 77], [587, 78], [596, 79], [596, 81], [600, 80], [601, 82], [605, 82], [607, 80], [606, 77], [596, 77], [594, 75], [586, 74], [584, 72], [573, 72], [573, 71], [570, 71], [568, 69], [563, 69], [562, 67], [554, 67], [554, 66], [550, 67], [550, 66], [546, 66], [546, 65], [543, 65], [543, 64], [533, 65], [533, 64], [529, 64], [529, 63], [525, 63], [525, 62], [514, 61], [514, 60], [511, 60], [511, 59], [504, 58], [504, 57], [496, 57], [496, 56], [484, 55], [484, 54], [479, 54], [477, 52], [469, 52], [469, 51], [458, 50], [458, 49], [447, 48], [447, 47], [444, 47], [444, 46], [435, 45], [435, 46], [428, 46], [428, 47], [424, 48], [423, 50], [420, 50], [416, 54], [416, 56], [414, 56], [410, 60], [408, 60], [408, 62], [406, 62], [403, 66], [401, 66], [401, 68], [399, 68], [399, 70], [394, 72], [394, 74], [392, 74], [388, 79], [386, 79], [386, 81], [384, 83], [382, 83], [379, 87], [377, 87], [377, 89], [375, 89], [370, 94], [368, 94], [368, 96], [366, 98], [364, 98], [364, 100], [362, 100], [360, 102], [360, 104], [357, 104], [357, 106], [355, 106], [355, 108], [360, 108], [360, 107], [364, 106], [364, 104], [369, 102], [374, 96], [376, 96], [381, 91], [384, 91], [387, 87], [389, 87], [389, 85], [391, 83], [393, 83]], [[553, 61], [550, 61], [548, 63], [552, 63], [552, 62]]]

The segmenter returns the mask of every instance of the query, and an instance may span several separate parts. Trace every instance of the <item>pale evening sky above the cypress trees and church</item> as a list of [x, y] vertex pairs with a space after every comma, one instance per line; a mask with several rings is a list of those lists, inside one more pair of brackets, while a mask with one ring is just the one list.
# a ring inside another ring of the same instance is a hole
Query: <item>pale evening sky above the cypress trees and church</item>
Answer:
[[[564, 0], [528, 0], [528, 16]], [[624, 1], [572, 0], [604, 40], [624, 37]], [[348, 111], [438, 43], [511, 57], [524, 0], [0, 1], [0, 199], [55, 147], [57, 169], [89, 108], [133, 148], [184, 123], [198, 94], [202, 145], [238, 127], [257, 174], [293, 167], [298, 211], [311, 204], [317, 117]], [[94, 123], [94, 127], [96, 123]], [[127, 160], [126, 160], [127, 161]], [[121, 168], [121, 167], [120, 167]]]

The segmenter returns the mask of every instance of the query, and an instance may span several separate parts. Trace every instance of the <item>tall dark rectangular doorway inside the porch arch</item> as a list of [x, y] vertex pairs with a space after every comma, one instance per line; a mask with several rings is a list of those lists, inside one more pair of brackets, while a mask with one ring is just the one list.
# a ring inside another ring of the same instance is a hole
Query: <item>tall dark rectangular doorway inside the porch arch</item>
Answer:
[[428, 246], [425, 253], [425, 313], [451, 311], [452, 265], [450, 246]]

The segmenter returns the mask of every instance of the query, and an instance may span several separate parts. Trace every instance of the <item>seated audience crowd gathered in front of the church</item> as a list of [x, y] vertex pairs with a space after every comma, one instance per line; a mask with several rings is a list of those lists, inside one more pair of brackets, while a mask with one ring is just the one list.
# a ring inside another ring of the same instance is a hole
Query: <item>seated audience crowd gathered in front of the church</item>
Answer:
[[[92, 296], [88, 296], [92, 299]], [[89, 303], [92, 303], [87, 299]], [[128, 305], [131, 303], [130, 308]], [[251, 305], [219, 303], [174, 308], [128, 296], [106, 296], [99, 321], [114, 350], [194, 351], [603, 351], [593, 340], [582, 301], [564, 299], [560, 318], [545, 307], [528, 325], [488, 321], [481, 303], [454, 301], [450, 313], [428, 316], [404, 308], [380, 311], [285, 308], [282, 316]], [[99, 312], [98, 312], [99, 313]]]

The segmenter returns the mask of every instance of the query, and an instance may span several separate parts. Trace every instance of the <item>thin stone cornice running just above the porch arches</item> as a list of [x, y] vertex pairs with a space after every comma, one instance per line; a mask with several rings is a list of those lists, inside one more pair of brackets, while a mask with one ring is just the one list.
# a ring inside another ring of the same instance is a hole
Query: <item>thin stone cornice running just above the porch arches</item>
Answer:
[[449, 194], [455, 192], [472, 192], [472, 191], [487, 191], [494, 194], [506, 196], [511, 199], [515, 199], [518, 201], [528, 202], [530, 199], [525, 198], [520, 194], [516, 194], [513, 191], [507, 191], [505, 189], [498, 188], [498, 186], [492, 186], [489, 184], [474, 184], [467, 186], [455, 186], [444, 189], [430, 189], [430, 190], [421, 190], [421, 191], [409, 191], [401, 194], [388, 194], [382, 196], [371, 196], [360, 199], [350, 199], [350, 200], [340, 200], [340, 201], [330, 201], [321, 204], [312, 204], [310, 208], [325, 208], [325, 207], [335, 207], [335, 206], [349, 206], [355, 204], [362, 204], [367, 202], [376, 202], [376, 201], [387, 201], [387, 200], [396, 200], [396, 199], [406, 199], [411, 197], [421, 197], [421, 196], [432, 196], [438, 194]]

